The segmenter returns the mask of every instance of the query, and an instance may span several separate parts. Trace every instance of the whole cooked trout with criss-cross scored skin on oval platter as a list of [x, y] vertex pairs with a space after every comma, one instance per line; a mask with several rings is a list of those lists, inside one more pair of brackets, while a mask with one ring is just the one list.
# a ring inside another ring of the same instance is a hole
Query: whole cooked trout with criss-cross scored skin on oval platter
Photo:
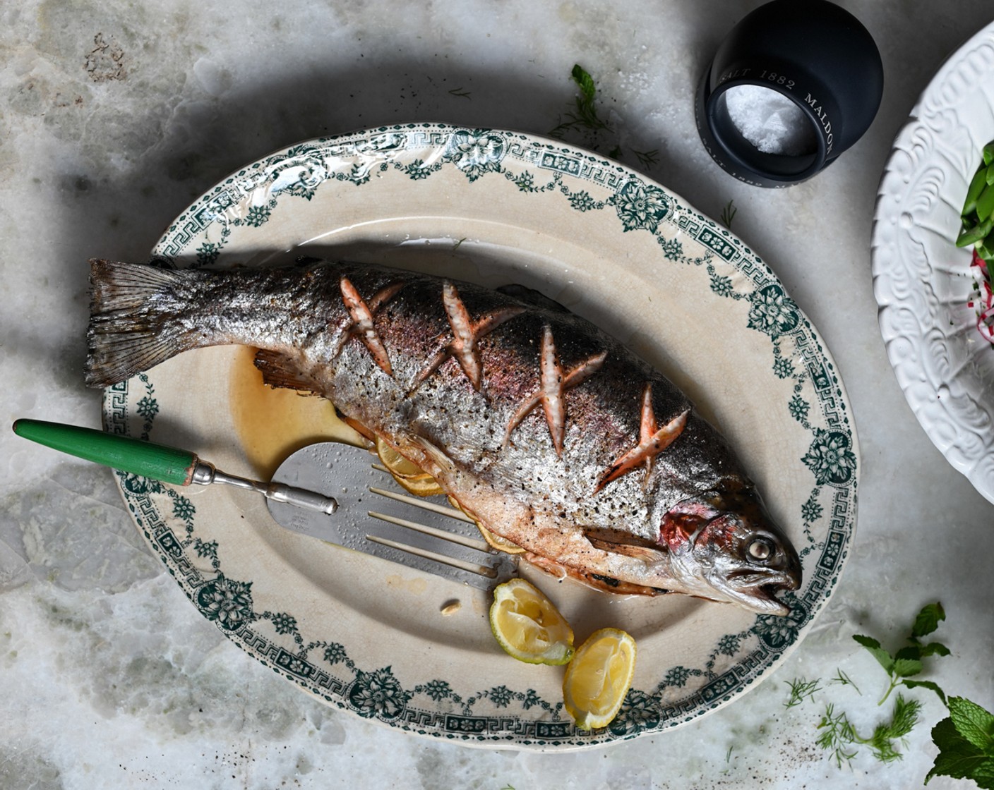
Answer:
[[329, 398], [539, 567], [788, 612], [776, 593], [799, 587], [800, 560], [726, 440], [548, 300], [358, 263], [90, 265], [90, 387], [251, 346], [268, 384]]

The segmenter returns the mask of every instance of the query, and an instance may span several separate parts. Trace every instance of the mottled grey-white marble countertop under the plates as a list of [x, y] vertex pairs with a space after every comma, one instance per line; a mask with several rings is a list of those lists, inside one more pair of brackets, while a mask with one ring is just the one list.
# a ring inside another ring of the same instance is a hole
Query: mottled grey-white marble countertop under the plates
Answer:
[[[846, 0], [885, 90], [868, 133], [802, 185], [761, 190], [703, 149], [694, 87], [754, 0], [325, 4], [29, 0], [0, 10], [0, 403], [98, 426], [83, 387], [86, 265], [142, 260], [228, 173], [321, 135], [407, 120], [545, 133], [580, 63], [630, 166], [757, 250], [819, 328], [862, 452], [857, 539], [834, 597], [787, 662], [735, 704], [673, 731], [568, 753], [466, 748], [322, 706], [238, 650], [184, 599], [101, 468], [0, 434], [0, 786], [914, 787], [945, 715], [918, 691], [905, 758], [820, 749], [823, 703], [869, 729], [883, 675], [851, 640], [897, 646], [925, 603], [951, 655], [923, 678], [994, 708], [994, 506], [919, 427], [877, 325], [870, 237], [898, 130], [990, 7]], [[587, 143], [580, 134], [571, 142]], [[862, 695], [829, 685], [842, 670]], [[786, 709], [786, 682], [822, 679]], [[846, 695], [843, 696], [842, 692]], [[970, 786], [945, 778], [930, 787]]]

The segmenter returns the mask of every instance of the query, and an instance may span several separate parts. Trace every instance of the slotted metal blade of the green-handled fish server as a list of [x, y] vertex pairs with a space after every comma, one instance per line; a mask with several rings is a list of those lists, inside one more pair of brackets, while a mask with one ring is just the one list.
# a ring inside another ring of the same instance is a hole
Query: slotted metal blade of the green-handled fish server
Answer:
[[334, 514], [266, 500], [281, 527], [373, 554], [457, 583], [491, 589], [510, 578], [516, 560], [495, 552], [444, 497], [403, 491], [376, 456], [338, 442], [311, 444], [287, 458], [272, 477], [338, 501]]

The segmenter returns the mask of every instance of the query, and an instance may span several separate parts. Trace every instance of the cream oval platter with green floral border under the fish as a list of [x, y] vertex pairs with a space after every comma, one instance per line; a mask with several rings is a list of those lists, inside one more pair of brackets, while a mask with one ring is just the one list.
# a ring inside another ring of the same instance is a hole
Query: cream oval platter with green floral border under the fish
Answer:
[[[616, 162], [525, 134], [439, 124], [314, 140], [219, 184], [155, 253], [177, 265], [320, 254], [537, 288], [697, 401], [802, 557], [803, 586], [787, 595], [784, 618], [680, 595], [621, 598], [532, 573], [578, 640], [613, 626], [638, 642], [620, 714], [584, 732], [563, 708], [562, 668], [520, 664], [496, 645], [486, 594], [287, 534], [247, 492], [123, 476], [139, 529], [204, 616], [332, 705], [487, 746], [577, 748], [659, 732], [766, 677], [838, 579], [858, 458], [824, 344], [742, 241]], [[233, 417], [244, 357], [189, 352], [108, 390], [108, 428], [251, 474]], [[442, 614], [452, 601], [458, 610]]]

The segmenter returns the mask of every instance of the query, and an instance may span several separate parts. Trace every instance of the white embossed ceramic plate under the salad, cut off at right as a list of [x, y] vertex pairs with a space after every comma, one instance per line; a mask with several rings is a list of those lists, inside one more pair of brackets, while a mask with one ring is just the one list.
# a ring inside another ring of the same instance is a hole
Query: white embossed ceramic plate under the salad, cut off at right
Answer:
[[873, 233], [880, 328], [898, 381], [946, 460], [994, 502], [994, 349], [967, 307], [957, 249], [966, 188], [994, 139], [994, 23], [945, 64], [894, 144]]

